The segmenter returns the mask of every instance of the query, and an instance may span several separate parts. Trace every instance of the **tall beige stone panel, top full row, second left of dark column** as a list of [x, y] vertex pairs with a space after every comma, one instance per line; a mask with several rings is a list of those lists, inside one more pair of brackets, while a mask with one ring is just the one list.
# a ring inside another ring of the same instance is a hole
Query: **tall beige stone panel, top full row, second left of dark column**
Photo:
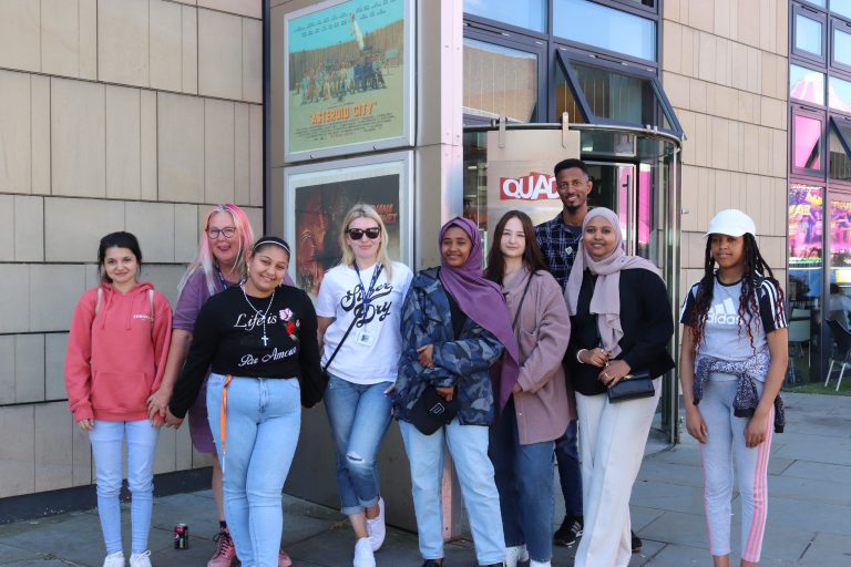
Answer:
[[243, 97], [243, 19], [198, 10], [198, 94]]

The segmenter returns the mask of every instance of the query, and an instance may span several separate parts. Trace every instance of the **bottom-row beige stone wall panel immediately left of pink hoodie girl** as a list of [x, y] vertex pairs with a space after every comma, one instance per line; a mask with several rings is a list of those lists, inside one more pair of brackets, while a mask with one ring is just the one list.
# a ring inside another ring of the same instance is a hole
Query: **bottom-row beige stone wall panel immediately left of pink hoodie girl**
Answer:
[[35, 406], [35, 491], [68, 488], [72, 481], [74, 421], [68, 405]]

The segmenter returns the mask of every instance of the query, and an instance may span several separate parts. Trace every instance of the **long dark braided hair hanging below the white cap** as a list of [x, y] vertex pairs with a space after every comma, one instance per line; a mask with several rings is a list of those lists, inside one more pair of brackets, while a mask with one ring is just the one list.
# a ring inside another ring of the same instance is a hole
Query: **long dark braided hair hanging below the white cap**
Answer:
[[[757, 246], [757, 239], [753, 235], [746, 233], [745, 237], [745, 276], [741, 279], [741, 293], [739, 295], [739, 336], [741, 336], [742, 322], [746, 320], [746, 330], [748, 332], [748, 339], [750, 339], [750, 348], [756, 352], [753, 344], [753, 333], [751, 332], [751, 322], [759, 315], [759, 298], [757, 297], [757, 287], [760, 278], [763, 278], [777, 288], [777, 297], [775, 298], [775, 318], [782, 318], [783, 312], [783, 290], [780, 288], [780, 284], [775, 278], [775, 274], [768, 266], [768, 262], [762, 258]], [[711, 254], [711, 236], [706, 239], [706, 252], [704, 255], [704, 277], [700, 279], [700, 286], [697, 292], [697, 299], [695, 300], [695, 309], [691, 311], [691, 319], [688, 324], [691, 327], [691, 333], [694, 339], [694, 352], [697, 352], [697, 348], [700, 341], [706, 336], [706, 320], [709, 316], [709, 307], [712, 305], [712, 289], [715, 284], [715, 258]], [[758, 324], [761, 324], [761, 320], [757, 318]]]

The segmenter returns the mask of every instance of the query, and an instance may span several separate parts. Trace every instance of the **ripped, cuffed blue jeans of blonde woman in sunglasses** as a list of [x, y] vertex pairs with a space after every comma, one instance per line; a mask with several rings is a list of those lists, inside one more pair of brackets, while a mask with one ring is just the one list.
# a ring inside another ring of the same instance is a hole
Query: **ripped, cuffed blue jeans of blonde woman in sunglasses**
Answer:
[[376, 455], [390, 426], [391, 382], [355, 384], [330, 374], [325, 408], [337, 450], [337, 488], [342, 513], [360, 514], [378, 502]]

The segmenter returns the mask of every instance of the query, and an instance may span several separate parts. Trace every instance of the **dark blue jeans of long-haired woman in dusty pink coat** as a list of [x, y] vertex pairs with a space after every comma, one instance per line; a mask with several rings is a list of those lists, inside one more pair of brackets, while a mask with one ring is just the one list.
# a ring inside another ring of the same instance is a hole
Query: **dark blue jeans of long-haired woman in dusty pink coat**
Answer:
[[520, 444], [512, 400], [491, 426], [488, 454], [500, 491], [505, 545], [525, 544], [530, 558], [541, 563], [553, 558], [553, 445], [552, 441]]

